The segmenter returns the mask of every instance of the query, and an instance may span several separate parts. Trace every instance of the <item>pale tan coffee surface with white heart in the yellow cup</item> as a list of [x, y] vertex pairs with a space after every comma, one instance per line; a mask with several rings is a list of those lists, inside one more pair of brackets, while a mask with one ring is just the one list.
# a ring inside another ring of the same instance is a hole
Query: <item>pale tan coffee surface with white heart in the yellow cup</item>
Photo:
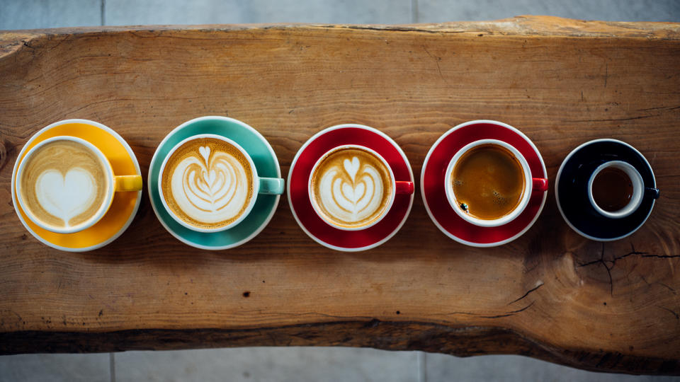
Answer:
[[21, 173], [23, 207], [47, 226], [71, 228], [98, 214], [109, 182], [104, 164], [87, 146], [52, 141], [33, 151]]

